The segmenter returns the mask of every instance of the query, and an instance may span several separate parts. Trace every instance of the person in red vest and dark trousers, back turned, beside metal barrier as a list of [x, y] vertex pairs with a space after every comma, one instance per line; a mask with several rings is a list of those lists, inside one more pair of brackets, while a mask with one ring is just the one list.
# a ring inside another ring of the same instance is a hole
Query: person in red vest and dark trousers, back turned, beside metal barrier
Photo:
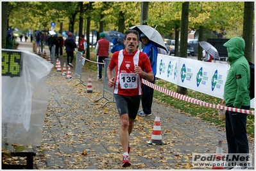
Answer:
[[102, 67], [104, 66], [104, 60], [105, 58], [108, 58], [109, 54], [109, 47], [110, 42], [108, 42], [107, 39], [105, 39], [105, 33], [100, 34], [100, 39], [98, 40], [96, 44], [95, 53], [97, 55], [97, 62], [98, 62], [98, 80], [102, 79]]

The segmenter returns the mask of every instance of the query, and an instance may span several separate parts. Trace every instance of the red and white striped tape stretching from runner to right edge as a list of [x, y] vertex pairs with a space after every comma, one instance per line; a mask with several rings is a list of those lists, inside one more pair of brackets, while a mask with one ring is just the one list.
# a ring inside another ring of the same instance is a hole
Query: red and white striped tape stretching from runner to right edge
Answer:
[[191, 102], [191, 103], [194, 103], [194, 104], [199, 104], [201, 106], [207, 106], [207, 107], [210, 107], [210, 108], [216, 108], [216, 109], [221, 109], [221, 110], [228, 110], [228, 111], [234, 111], [234, 112], [238, 112], [238, 113], [246, 113], [246, 114], [254, 115], [254, 111], [252, 111], [252, 110], [242, 110], [242, 109], [230, 108], [230, 107], [216, 105], [216, 104], [210, 104], [208, 102], [203, 102], [203, 101], [200, 101], [198, 99], [194, 99], [192, 97], [187, 97], [185, 95], [178, 94], [178, 93], [173, 92], [171, 90], [166, 90], [166, 88], [162, 88], [158, 85], [154, 85], [153, 83], [150, 83], [149, 81], [146, 81], [145, 79], [142, 79], [142, 83], [144, 85], [147, 85], [147, 86], [157, 90], [158, 92], [162, 92], [162, 93], [167, 94], [169, 96], [175, 97], [176, 99], [181, 99], [182, 101]]

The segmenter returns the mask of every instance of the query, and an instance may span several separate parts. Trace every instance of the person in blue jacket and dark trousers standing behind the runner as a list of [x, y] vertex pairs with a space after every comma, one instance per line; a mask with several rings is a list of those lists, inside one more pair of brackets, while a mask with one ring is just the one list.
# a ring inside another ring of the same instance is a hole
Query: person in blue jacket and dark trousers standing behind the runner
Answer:
[[[157, 55], [158, 55], [158, 49], [157, 46], [151, 42], [146, 35], [143, 33], [141, 34], [141, 40], [142, 43], [144, 44], [142, 52], [146, 53], [148, 55], [153, 74], [154, 74], [154, 79], [151, 81], [151, 83], [155, 84], [155, 75], [157, 74]], [[142, 90], [143, 94], [141, 97], [141, 104], [142, 104], [142, 111], [139, 111], [138, 115], [139, 116], [151, 116], [151, 106], [153, 102], [153, 94], [154, 94], [154, 89], [147, 86], [147, 85], [142, 85]]]

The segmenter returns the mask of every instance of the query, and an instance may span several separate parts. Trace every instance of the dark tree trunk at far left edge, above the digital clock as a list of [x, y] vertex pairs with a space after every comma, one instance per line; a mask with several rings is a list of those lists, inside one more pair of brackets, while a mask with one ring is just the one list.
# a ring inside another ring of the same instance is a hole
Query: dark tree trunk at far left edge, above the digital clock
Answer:
[[8, 2], [2, 3], [2, 49], [6, 48], [6, 31], [8, 29]]

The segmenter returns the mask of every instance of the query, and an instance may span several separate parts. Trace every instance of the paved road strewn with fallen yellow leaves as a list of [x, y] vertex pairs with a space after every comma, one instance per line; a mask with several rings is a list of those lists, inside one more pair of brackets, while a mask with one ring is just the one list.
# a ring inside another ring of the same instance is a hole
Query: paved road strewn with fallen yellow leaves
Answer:
[[[19, 49], [32, 51], [30, 42], [21, 42]], [[44, 49], [49, 55], [49, 50]], [[65, 58], [60, 58], [61, 65]], [[71, 68], [72, 76], [74, 68]], [[89, 76], [93, 93], [86, 93]], [[105, 92], [104, 81], [98, 81], [96, 71], [85, 67], [81, 80], [66, 79], [55, 68], [47, 77], [49, 105], [37, 148], [36, 167], [40, 169], [121, 169], [119, 117], [112, 95]], [[80, 83], [83, 81], [85, 85]], [[76, 85], [79, 83], [78, 85]], [[107, 97], [107, 99], [101, 97]], [[97, 101], [100, 99], [99, 101]], [[151, 117], [137, 117], [130, 138], [132, 166], [128, 169], [196, 169], [192, 167], [193, 153], [215, 153], [218, 140], [227, 152], [225, 130], [182, 113], [172, 106], [153, 101]], [[155, 113], [160, 112], [162, 141], [165, 145], [148, 145]], [[251, 138], [252, 139], [252, 138]], [[250, 141], [250, 152], [255, 152]], [[254, 155], [253, 155], [254, 163]], [[254, 168], [254, 167], [253, 167]], [[208, 167], [208, 169], [210, 169]]]

